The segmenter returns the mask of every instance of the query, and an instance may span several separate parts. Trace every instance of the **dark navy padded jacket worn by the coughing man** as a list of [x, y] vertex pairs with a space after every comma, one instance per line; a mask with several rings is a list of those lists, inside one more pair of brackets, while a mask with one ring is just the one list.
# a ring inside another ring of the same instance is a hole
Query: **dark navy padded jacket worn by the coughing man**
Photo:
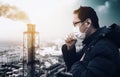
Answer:
[[[108, 38], [104, 37], [103, 28], [98, 29], [83, 41], [84, 47], [76, 53], [73, 46], [67, 50], [62, 46], [62, 53], [67, 70], [73, 77], [119, 77], [119, 50]], [[103, 35], [103, 37], [101, 37]], [[81, 57], [85, 54], [82, 61]]]

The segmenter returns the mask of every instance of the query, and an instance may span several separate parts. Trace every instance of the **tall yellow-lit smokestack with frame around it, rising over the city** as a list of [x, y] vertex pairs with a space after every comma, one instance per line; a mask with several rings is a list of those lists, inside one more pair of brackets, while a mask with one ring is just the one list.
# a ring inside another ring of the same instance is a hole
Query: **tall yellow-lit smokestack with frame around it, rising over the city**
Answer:
[[[39, 32], [36, 32], [34, 24], [27, 24], [27, 31], [24, 32], [24, 52], [27, 52], [28, 77], [35, 77], [35, 52], [39, 47]], [[25, 46], [26, 45], [26, 46]]]

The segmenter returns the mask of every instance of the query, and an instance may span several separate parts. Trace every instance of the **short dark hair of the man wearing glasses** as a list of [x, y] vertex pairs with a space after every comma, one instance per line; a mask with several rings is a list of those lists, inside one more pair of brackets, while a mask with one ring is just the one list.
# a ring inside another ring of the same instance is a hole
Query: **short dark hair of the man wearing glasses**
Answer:
[[91, 7], [80, 6], [79, 9], [74, 11], [74, 14], [78, 14], [78, 18], [83, 22], [87, 18], [90, 18], [94, 28], [99, 28], [99, 19], [95, 10]]

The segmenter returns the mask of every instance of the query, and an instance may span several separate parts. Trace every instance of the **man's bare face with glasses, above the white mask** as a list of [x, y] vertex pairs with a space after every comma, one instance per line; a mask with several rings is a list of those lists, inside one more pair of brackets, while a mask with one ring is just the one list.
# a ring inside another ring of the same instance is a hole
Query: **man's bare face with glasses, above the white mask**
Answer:
[[78, 14], [74, 14], [73, 24], [74, 27], [79, 26], [80, 32], [85, 32], [87, 25], [85, 24], [85, 21], [81, 22], [81, 20], [78, 18]]

